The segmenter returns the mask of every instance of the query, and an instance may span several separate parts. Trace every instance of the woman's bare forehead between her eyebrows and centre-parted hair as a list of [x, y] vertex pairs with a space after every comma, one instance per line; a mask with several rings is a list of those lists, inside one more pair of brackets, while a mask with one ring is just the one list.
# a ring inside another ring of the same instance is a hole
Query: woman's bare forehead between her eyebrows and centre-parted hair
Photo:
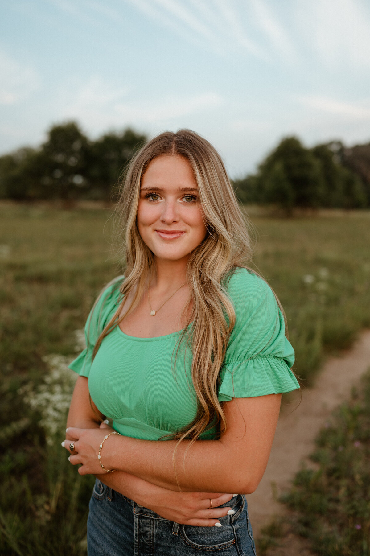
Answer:
[[196, 180], [188, 160], [178, 155], [154, 158], [141, 180], [142, 187], [196, 187]]

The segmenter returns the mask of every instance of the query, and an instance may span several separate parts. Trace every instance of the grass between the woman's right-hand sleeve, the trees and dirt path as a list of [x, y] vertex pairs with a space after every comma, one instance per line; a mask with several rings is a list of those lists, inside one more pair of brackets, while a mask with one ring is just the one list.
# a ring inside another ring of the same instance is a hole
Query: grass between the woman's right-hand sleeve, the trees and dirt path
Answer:
[[253, 218], [253, 224], [254, 261], [286, 311], [294, 369], [309, 385], [325, 353], [349, 347], [370, 326], [370, 219]]

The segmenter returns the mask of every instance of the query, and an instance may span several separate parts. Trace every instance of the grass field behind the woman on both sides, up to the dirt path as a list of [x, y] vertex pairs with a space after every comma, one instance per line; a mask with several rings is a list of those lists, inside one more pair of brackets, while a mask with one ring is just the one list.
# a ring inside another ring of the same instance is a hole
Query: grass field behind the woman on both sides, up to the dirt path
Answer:
[[[60, 447], [80, 330], [114, 261], [108, 210], [0, 206], [0, 553], [86, 553], [91, 478]], [[370, 218], [253, 217], [254, 263], [286, 310], [296, 373], [370, 326]], [[52, 356], [56, 354], [56, 356]]]

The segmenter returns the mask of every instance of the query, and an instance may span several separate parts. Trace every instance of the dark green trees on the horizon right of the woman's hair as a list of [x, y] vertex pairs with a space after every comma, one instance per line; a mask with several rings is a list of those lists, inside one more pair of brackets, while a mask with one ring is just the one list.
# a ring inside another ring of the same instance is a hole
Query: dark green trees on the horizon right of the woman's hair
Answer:
[[362, 209], [370, 206], [370, 143], [346, 148], [331, 141], [306, 148], [284, 138], [257, 172], [234, 181], [244, 203]]

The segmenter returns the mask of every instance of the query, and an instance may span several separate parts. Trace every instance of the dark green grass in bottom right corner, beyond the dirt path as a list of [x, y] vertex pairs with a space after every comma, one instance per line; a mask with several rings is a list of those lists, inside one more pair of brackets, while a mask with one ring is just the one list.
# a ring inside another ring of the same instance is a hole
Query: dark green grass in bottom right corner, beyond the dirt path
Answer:
[[370, 554], [370, 371], [361, 392], [333, 414], [283, 501], [296, 512], [294, 528], [319, 556]]

